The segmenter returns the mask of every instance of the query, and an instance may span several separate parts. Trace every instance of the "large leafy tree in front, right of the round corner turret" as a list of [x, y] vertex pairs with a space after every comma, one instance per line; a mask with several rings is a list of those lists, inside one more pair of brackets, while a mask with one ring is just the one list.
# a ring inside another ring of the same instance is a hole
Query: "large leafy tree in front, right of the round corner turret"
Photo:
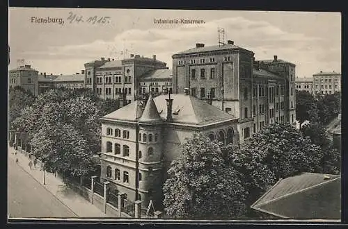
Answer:
[[166, 213], [177, 219], [230, 219], [244, 214], [247, 193], [220, 146], [202, 134], [182, 144], [164, 183]]

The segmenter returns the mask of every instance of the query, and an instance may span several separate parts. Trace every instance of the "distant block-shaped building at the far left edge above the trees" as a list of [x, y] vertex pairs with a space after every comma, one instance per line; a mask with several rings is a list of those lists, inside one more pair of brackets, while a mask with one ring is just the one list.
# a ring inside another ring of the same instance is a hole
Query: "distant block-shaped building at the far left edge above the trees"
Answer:
[[31, 65], [24, 65], [9, 71], [10, 87], [19, 86], [37, 96], [38, 91], [38, 71], [31, 68]]

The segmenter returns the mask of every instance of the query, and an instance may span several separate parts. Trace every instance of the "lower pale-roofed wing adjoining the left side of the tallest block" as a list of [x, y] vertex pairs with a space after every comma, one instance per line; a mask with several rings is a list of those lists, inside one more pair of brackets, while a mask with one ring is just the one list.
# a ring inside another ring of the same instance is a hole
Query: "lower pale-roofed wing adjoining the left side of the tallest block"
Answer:
[[139, 94], [154, 92], [157, 95], [164, 91], [172, 93], [172, 81], [173, 74], [171, 69], [149, 71], [139, 78]]

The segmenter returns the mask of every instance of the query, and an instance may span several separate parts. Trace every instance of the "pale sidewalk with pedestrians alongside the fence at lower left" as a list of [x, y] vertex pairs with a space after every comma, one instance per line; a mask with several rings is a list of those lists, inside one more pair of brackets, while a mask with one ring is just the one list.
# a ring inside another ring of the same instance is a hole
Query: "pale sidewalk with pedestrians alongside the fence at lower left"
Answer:
[[[38, 182], [45, 187], [49, 192], [54, 194], [62, 203], [72, 210], [79, 217], [107, 217], [102, 211], [99, 210], [95, 205], [87, 201], [84, 197], [75, 193], [69, 187], [66, 187], [60, 178], [54, 176], [53, 173], [45, 172], [45, 185], [43, 185], [44, 172], [40, 171], [40, 162], [36, 164], [36, 169], [32, 167], [29, 168], [29, 158], [21, 153], [20, 150], [17, 151], [15, 155], [15, 149], [13, 147], [8, 147], [8, 159], [16, 160], [18, 159], [18, 166], [22, 167], [24, 171], [31, 174], [31, 176], [38, 180]], [[24, 191], [28, 192], [28, 190]], [[29, 191], [30, 192], [30, 191]]]

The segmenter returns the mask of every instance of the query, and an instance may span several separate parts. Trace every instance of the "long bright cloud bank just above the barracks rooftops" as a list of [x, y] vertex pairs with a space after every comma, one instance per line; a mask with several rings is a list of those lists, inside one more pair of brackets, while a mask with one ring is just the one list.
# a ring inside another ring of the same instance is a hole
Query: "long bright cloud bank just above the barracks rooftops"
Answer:
[[[46, 51], [25, 54], [31, 58], [36, 55], [39, 59], [46, 56], [56, 60], [93, 60], [103, 56], [122, 58], [121, 52], [127, 49], [128, 55], [134, 53], [150, 57], [156, 54], [157, 59], [167, 62], [167, 66], [171, 67], [171, 56], [174, 53], [191, 49], [197, 42], [207, 46], [218, 44], [218, 27], [225, 29], [226, 40], [234, 40], [237, 46], [254, 51], [256, 59], [269, 59], [278, 55], [280, 59], [294, 62], [303, 74], [309, 74], [315, 65], [324, 66], [323, 62], [340, 62], [340, 47], [332, 47], [328, 54], [319, 37], [291, 33], [269, 22], [253, 21], [244, 17], [228, 17], [200, 25], [154, 25], [149, 30], [130, 29], [117, 34], [111, 41], [100, 39], [80, 45], [49, 46]], [[312, 69], [306, 70], [309, 62]], [[81, 69], [83, 64], [81, 62], [76, 69]]]

